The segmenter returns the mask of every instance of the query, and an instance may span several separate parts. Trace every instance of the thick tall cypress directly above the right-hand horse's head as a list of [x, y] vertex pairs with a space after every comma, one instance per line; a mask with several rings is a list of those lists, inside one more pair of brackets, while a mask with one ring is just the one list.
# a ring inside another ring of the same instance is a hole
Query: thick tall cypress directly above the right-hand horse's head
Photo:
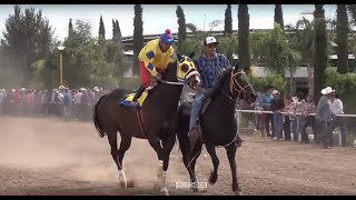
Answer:
[[249, 14], [247, 4], [238, 6], [238, 60], [239, 67], [249, 72]]

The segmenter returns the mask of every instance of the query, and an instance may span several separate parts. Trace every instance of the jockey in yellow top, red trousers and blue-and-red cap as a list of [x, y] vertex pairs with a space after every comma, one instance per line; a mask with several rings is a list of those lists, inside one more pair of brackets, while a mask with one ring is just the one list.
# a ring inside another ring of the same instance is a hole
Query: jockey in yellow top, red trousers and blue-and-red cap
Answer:
[[141, 49], [138, 59], [140, 63], [140, 88], [137, 90], [131, 107], [137, 108], [137, 99], [141, 97], [145, 89], [150, 84], [150, 77], [158, 81], [166, 67], [176, 60], [175, 49], [171, 47], [174, 37], [167, 29], [159, 39], [151, 40]]

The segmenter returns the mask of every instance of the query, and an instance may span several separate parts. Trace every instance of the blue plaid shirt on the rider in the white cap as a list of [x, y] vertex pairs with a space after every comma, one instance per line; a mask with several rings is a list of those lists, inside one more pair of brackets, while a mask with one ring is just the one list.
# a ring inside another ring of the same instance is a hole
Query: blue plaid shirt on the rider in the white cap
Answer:
[[229, 60], [220, 53], [215, 53], [212, 59], [208, 59], [204, 53], [196, 58], [194, 63], [200, 73], [201, 88], [204, 89], [212, 88], [212, 83], [222, 68], [231, 68]]

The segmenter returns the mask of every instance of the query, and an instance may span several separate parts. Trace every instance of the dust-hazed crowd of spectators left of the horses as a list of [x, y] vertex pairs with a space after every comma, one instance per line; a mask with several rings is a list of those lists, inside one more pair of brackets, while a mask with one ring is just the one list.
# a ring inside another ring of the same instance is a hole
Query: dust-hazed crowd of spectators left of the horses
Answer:
[[57, 116], [65, 120], [88, 121], [92, 107], [107, 93], [99, 87], [53, 90], [0, 89], [0, 116]]

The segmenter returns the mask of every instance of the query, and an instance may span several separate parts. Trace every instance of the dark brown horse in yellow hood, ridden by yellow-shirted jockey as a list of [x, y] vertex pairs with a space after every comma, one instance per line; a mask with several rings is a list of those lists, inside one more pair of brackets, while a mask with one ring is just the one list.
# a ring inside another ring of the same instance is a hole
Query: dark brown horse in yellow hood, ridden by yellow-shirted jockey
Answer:
[[[192, 54], [190, 54], [192, 57]], [[170, 63], [162, 81], [149, 91], [139, 110], [119, 104], [126, 97], [122, 90], [115, 90], [101, 97], [95, 107], [93, 122], [100, 137], [109, 139], [111, 156], [119, 170], [119, 181], [127, 187], [122, 159], [130, 148], [131, 138], [147, 139], [159, 160], [158, 181], [160, 191], [168, 194], [166, 178], [170, 151], [176, 142], [177, 109], [184, 83], [196, 89], [199, 84], [199, 73], [189, 57], [179, 56]], [[117, 132], [121, 136], [118, 149]], [[161, 143], [160, 143], [161, 142]]]

